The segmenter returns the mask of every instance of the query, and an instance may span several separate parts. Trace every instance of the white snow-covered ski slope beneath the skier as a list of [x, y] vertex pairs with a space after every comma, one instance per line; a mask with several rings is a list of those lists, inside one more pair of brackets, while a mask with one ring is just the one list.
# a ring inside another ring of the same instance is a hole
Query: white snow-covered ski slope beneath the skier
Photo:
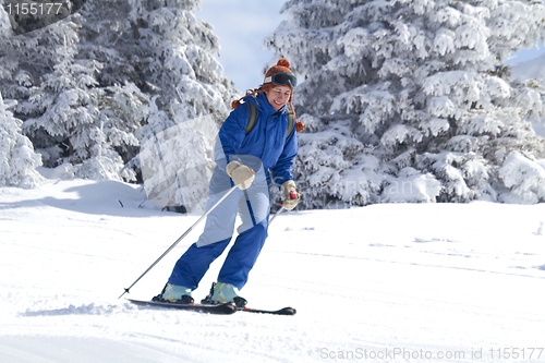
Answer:
[[[0, 189], [1, 362], [545, 362], [543, 204], [282, 214], [242, 295], [298, 314], [217, 316], [118, 299], [198, 218], [144, 198], [113, 181]], [[129, 297], [157, 294], [201, 227]]]

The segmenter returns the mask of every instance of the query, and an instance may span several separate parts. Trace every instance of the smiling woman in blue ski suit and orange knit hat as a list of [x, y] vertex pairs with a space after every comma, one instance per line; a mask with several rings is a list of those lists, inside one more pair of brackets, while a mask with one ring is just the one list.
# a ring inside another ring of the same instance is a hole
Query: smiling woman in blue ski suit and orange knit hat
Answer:
[[[233, 185], [237, 189], [206, 217], [204, 232], [177, 262], [157, 299], [193, 303], [191, 292], [230, 243], [239, 214], [242, 220], [237, 230], [239, 234], [217, 282], [213, 283], [203, 303], [233, 302], [239, 307], [246, 304], [239, 290], [246, 283], [267, 238], [268, 186], [272, 182], [280, 185], [283, 207], [288, 210], [293, 209], [300, 199], [292, 176], [293, 158], [298, 153], [294, 129], [303, 130], [303, 124], [294, 118], [291, 102], [295, 86], [296, 78], [290, 63], [280, 59], [267, 71], [257, 90], [233, 101], [233, 110], [223, 122], [216, 142], [217, 166], [210, 180], [207, 210]], [[241, 105], [242, 99], [245, 99], [244, 105]], [[291, 112], [287, 110], [287, 104]], [[292, 198], [293, 195], [296, 197]]]

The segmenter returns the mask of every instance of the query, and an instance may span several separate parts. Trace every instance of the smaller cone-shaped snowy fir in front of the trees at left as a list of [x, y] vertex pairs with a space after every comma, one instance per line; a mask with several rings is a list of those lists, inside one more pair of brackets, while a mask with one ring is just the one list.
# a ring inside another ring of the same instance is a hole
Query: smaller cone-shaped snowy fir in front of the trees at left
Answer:
[[94, 74], [101, 64], [76, 61], [77, 40], [64, 36], [56, 47], [55, 71], [44, 75], [28, 98], [29, 113], [38, 116], [27, 119], [24, 130], [40, 149], [47, 167], [69, 162], [81, 178], [119, 179], [123, 164], [108, 147], [108, 119], [97, 108], [102, 92], [96, 88]]

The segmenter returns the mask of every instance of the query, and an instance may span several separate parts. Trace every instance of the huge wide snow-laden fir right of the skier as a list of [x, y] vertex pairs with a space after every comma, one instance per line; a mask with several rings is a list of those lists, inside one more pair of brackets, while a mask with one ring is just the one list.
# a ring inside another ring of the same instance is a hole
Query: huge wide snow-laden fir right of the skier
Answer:
[[545, 94], [504, 66], [545, 37], [543, 1], [289, 0], [282, 11], [264, 45], [305, 80], [295, 176], [307, 207], [545, 201], [545, 143], [526, 122], [543, 119]]

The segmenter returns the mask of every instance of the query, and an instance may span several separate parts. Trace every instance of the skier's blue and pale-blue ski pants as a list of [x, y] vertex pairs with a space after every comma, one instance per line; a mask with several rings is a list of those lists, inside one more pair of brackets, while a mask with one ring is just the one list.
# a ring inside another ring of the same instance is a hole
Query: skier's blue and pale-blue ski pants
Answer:
[[[231, 185], [227, 173], [216, 169], [210, 181], [206, 210], [209, 210]], [[239, 214], [242, 221], [237, 230], [239, 234], [229, 250], [217, 281], [242, 289], [265, 244], [269, 213], [270, 194], [262, 168], [247, 190], [237, 187], [206, 217], [204, 232], [175, 263], [168, 282], [191, 290], [196, 289], [210, 264], [231, 242]]]

